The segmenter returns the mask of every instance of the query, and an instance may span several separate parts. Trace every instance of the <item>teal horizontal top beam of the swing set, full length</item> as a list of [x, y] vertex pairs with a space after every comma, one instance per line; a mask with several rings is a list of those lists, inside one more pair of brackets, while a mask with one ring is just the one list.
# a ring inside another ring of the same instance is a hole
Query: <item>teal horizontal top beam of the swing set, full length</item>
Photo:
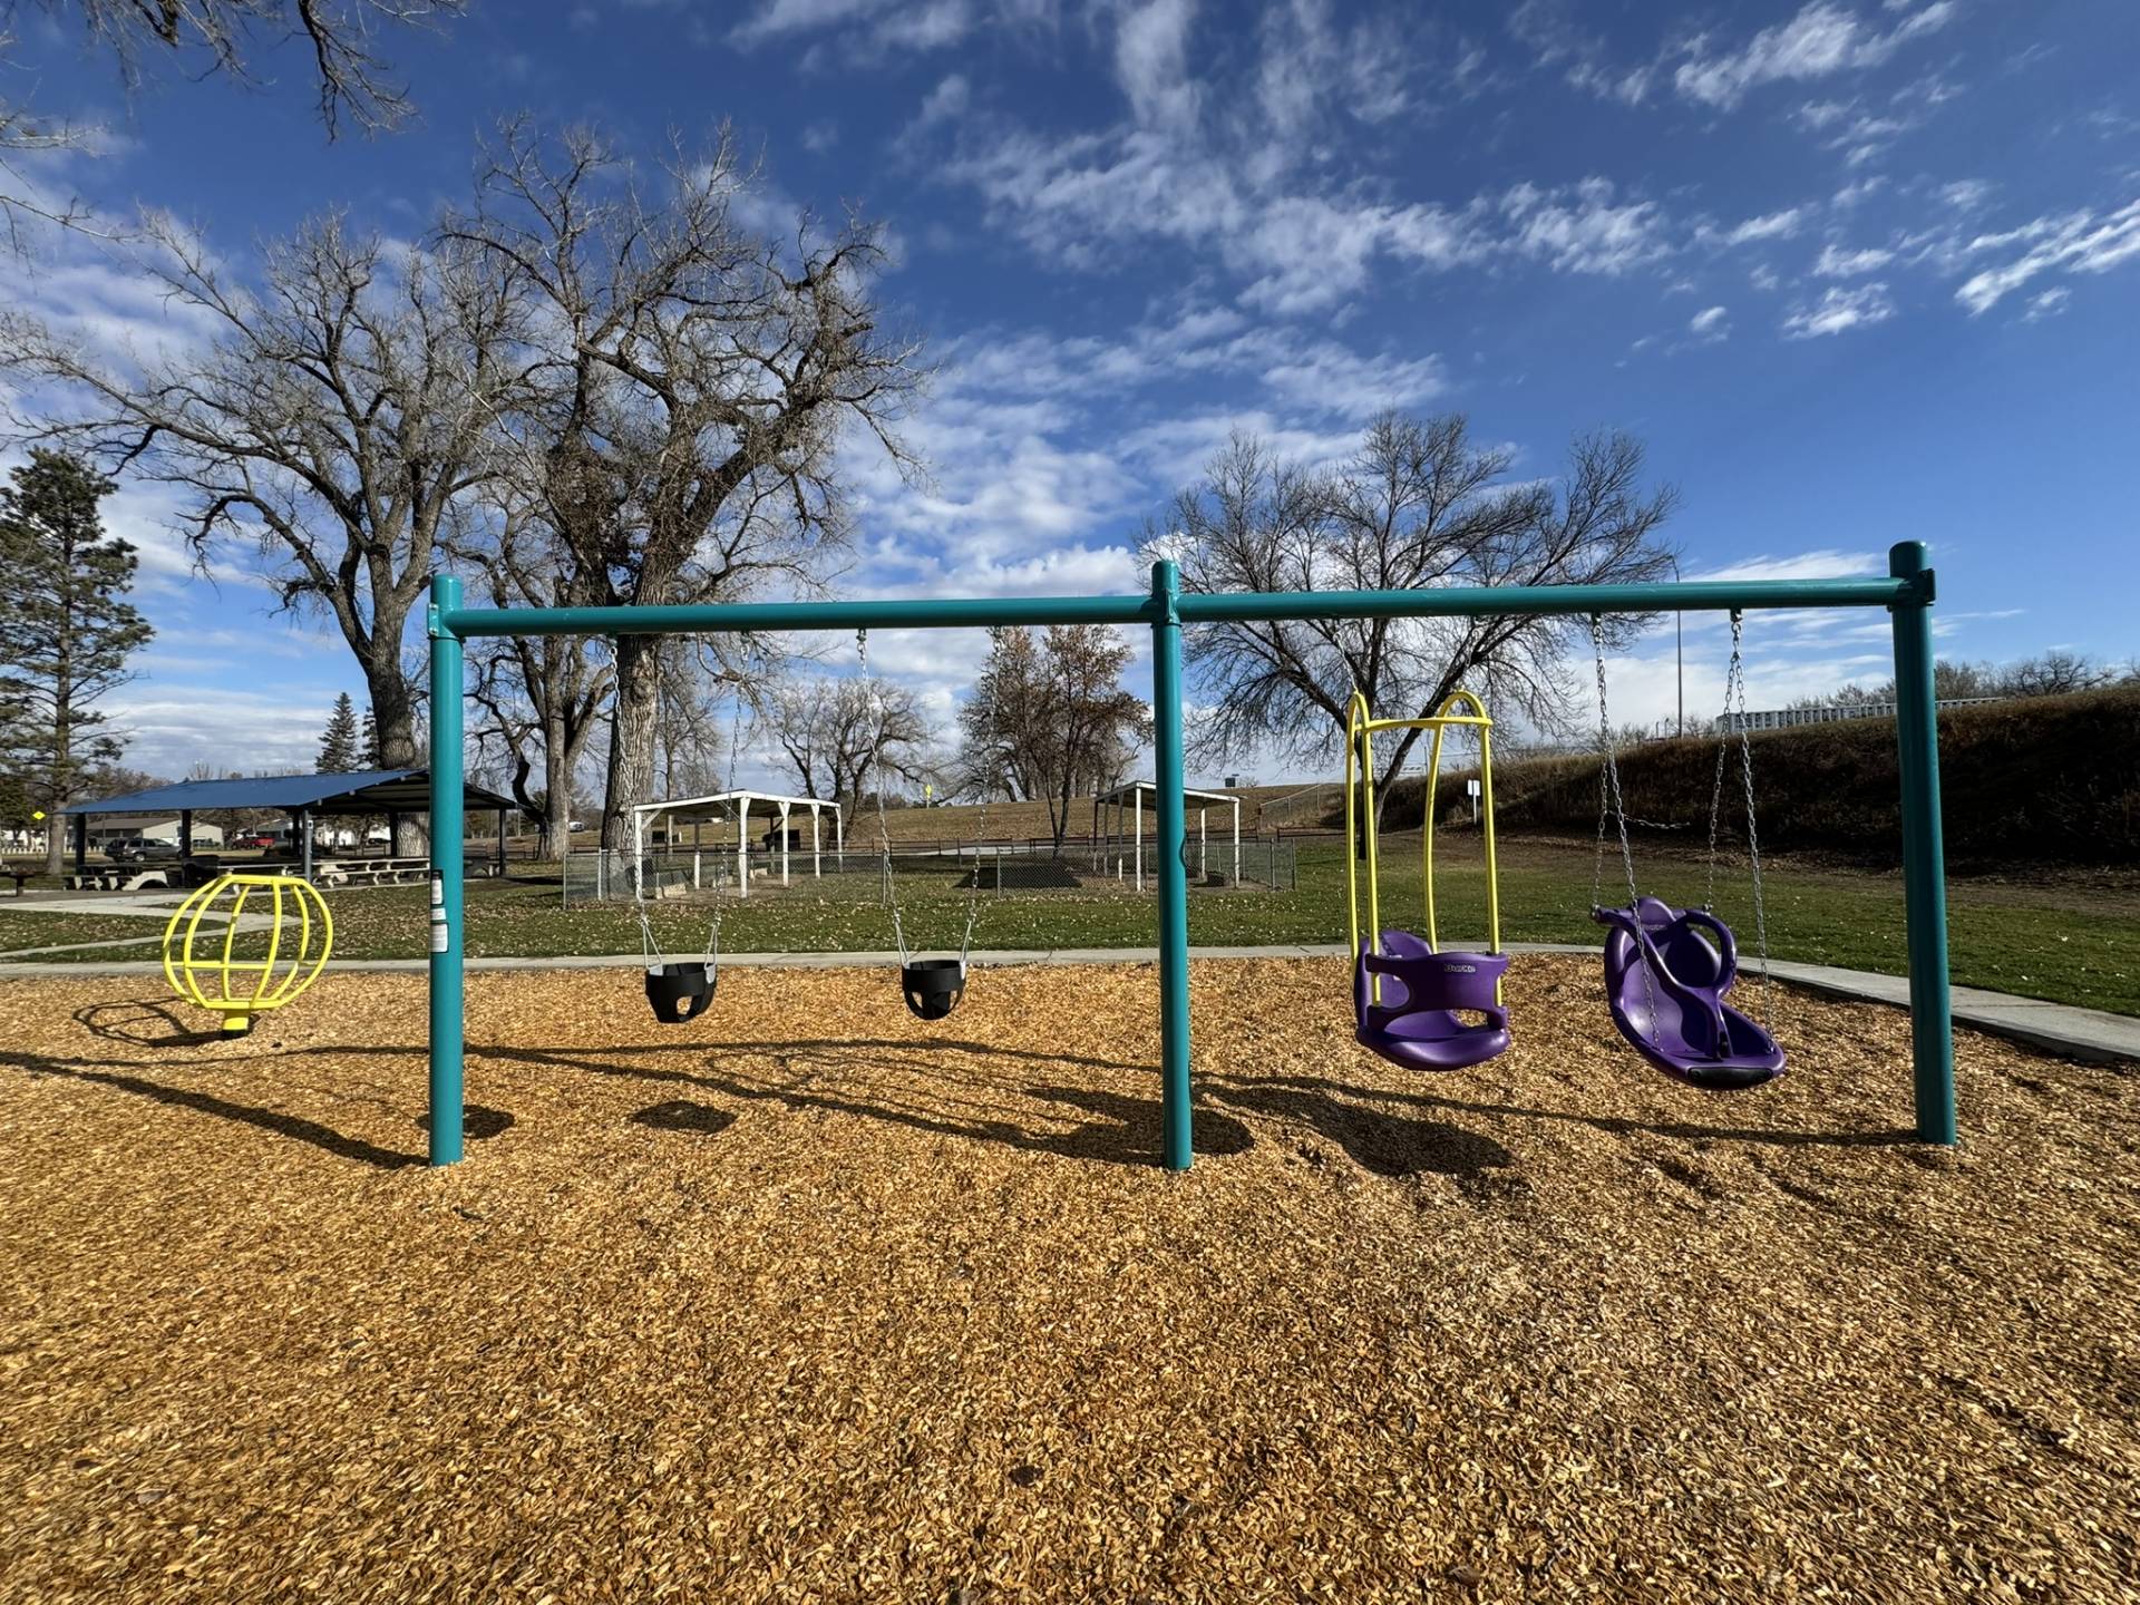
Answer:
[[[1896, 608], [1930, 601], [1924, 580], [1699, 580], [1693, 584], [1425, 586], [1421, 591], [1183, 593], [1183, 623], [1267, 618], [1449, 618], [1755, 608]], [[910, 601], [743, 601], [706, 608], [447, 608], [447, 636], [717, 636], [775, 629], [987, 629], [991, 625], [1149, 625], [1138, 597], [916, 597]]]

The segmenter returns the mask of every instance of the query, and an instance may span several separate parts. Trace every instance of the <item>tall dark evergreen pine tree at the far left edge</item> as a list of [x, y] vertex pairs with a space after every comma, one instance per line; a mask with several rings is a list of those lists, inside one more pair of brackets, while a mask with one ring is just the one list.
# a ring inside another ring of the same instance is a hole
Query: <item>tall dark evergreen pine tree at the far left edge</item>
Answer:
[[[135, 550], [105, 535], [96, 505], [113, 484], [62, 452], [32, 452], [0, 486], [0, 760], [36, 807], [58, 815], [86, 775], [124, 743], [96, 710], [133, 674], [154, 633], [128, 603]], [[54, 820], [58, 824], [58, 820]], [[60, 871], [64, 832], [45, 865]]]

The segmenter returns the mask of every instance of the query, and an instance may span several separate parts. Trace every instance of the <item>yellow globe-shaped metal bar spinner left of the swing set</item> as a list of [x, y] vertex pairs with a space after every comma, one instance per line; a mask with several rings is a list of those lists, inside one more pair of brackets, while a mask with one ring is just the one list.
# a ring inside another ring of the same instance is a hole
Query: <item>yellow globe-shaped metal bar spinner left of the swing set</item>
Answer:
[[[272, 914], [268, 952], [238, 959], [233, 954], [246, 903], [263, 890], [274, 899], [272, 910], [255, 905], [255, 914]], [[210, 927], [201, 939], [201, 920], [225, 901], [225, 924], [220, 931]], [[293, 918], [295, 931], [289, 929]], [[334, 916], [310, 882], [295, 875], [218, 875], [180, 903], [163, 929], [163, 974], [171, 991], [220, 1014], [223, 1029], [231, 1036], [244, 1036], [253, 1029], [255, 1014], [282, 1008], [319, 980], [332, 948]]]

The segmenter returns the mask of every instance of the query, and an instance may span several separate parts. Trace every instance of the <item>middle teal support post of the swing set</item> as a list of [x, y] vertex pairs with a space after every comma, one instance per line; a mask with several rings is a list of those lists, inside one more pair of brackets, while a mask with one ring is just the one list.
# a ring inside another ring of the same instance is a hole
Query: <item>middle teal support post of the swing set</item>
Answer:
[[1160, 790], [1160, 1158], [1188, 1171], [1190, 1119], [1190, 877], [1188, 811], [1181, 802], [1181, 576], [1151, 565], [1151, 725]]

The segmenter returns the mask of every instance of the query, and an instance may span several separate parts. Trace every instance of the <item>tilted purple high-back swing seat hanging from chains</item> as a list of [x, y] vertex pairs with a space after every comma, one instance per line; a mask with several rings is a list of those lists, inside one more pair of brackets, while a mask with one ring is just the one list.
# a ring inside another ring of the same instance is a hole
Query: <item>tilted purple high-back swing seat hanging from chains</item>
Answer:
[[1667, 1076], [1706, 1091], [1742, 1091], [1783, 1074], [1776, 1038], [1725, 1002], [1738, 942], [1708, 910], [1656, 897], [1633, 910], [1594, 907], [1605, 937], [1605, 997], [1620, 1036]]

